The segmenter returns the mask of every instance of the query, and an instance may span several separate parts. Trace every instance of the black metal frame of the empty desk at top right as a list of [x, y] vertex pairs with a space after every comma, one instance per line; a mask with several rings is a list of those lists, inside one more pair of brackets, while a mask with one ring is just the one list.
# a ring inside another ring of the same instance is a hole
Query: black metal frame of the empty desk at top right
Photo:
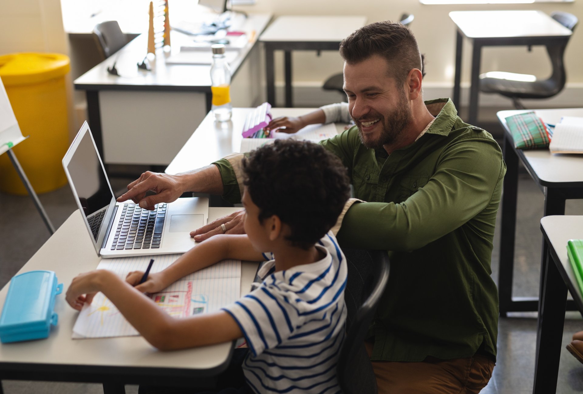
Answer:
[[[455, 76], [454, 76], [454, 105], [460, 105], [460, 90], [462, 76], [462, 45], [465, 37], [461, 29], [456, 30], [455, 41]], [[496, 38], [472, 38], [472, 72], [470, 77], [470, 102], [468, 123], [475, 125], [477, 120], [478, 93], [480, 92], [480, 62], [482, 61], [482, 47], [505, 47], [505, 46], [531, 46], [531, 45], [552, 45], [561, 41], [568, 41], [570, 36], [540, 36], [540, 37], [496, 37]]]

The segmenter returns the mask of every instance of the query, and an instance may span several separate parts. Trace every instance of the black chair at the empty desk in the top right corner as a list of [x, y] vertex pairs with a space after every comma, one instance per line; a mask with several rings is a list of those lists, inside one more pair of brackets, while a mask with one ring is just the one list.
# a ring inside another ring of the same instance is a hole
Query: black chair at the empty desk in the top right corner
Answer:
[[[553, 12], [550, 15], [554, 20], [573, 31], [579, 22], [575, 15], [567, 12]], [[549, 58], [553, 66], [553, 73], [548, 79], [539, 80], [528, 74], [514, 74], [504, 72], [488, 72], [480, 75], [480, 91], [483, 93], [498, 93], [511, 98], [514, 107], [525, 109], [520, 99], [549, 98], [558, 94], [567, 80], [563, 54], [567, 47], [562, 45], [546, 45]]]

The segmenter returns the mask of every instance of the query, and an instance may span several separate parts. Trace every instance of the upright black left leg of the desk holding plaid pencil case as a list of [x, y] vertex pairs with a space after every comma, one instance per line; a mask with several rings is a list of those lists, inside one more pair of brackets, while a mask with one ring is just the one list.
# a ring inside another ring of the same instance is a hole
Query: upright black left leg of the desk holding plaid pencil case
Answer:
[[516, 205], [518, 190], [518, 155], [504, 134], [503, 155], [506, 162], [504, 189], [502, 194], [502, 218], [500, 224], [500, 256], [498, 265], [498, 299], [500, 315], [511, 311], [512, 276], [514, 275], [514, 239], [516, 234]]

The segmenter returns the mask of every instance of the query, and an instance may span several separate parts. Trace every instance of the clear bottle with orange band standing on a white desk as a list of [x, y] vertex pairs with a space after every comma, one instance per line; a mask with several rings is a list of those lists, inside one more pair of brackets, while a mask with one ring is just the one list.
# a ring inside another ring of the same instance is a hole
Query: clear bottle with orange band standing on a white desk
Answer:
[[233, 113], [230, 94], [231, 68], [224, 56], [224, 45], [214, 44], [211, 48], [213, 50], [213, 63], [210, 66], [210, 90], [213, 93], [211, 109], [215, 120], [226, 122], [231, 119]]

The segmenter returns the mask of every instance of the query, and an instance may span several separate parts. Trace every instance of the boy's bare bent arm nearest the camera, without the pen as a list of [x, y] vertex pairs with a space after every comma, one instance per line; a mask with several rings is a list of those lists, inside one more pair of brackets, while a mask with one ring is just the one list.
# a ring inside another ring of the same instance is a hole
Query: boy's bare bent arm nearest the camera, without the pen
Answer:
[[160, 350], [212, 345], [243, 336], [237, 322], [224, 311], [185, 319], [170, 317], [129, 283], [106, 270], [77, 276], [67, 290], [66, 300], [80, 309], [97, 292], [103, 292], [147, 342]]

